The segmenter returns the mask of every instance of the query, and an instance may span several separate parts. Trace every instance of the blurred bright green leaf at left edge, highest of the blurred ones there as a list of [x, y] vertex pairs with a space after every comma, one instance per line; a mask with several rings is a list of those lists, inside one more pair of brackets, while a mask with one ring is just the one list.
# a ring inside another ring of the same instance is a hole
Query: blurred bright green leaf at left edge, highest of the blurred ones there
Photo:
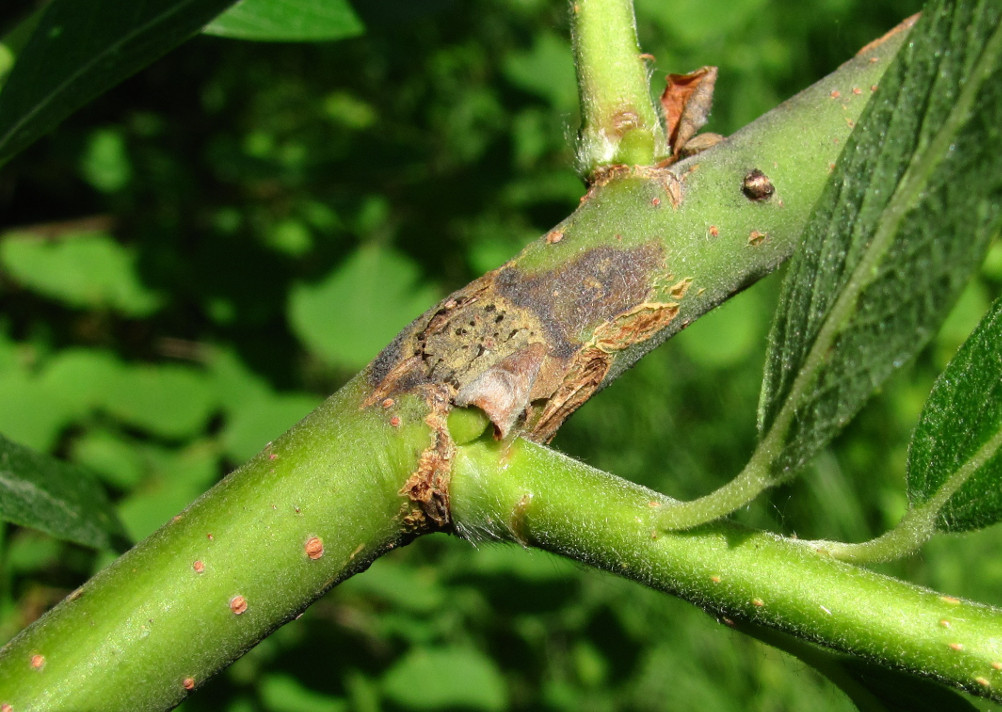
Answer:
[[68, 233], [58, 241], [9, 234], [0, 241], [0, 266], [25, 287], [70, 306], [148, 316], [162, 303], [142, 283], [136, 255], [103, 232]]

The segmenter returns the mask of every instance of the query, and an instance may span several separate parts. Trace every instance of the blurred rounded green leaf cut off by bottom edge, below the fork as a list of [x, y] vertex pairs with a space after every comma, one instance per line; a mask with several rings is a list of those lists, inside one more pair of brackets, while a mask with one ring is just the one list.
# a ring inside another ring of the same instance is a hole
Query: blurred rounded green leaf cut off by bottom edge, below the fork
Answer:
[[507, 709], [507, 691], [497, 666], [465, 648], [417, 649], [387, 671], [383, 693], [412, 710]]

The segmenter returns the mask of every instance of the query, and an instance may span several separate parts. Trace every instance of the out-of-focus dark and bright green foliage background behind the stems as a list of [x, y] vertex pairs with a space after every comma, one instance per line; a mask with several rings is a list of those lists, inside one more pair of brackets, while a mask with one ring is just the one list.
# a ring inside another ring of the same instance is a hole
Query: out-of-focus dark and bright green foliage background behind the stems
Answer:
[[[32, 7], [5, 3], [0, 33]], [[196, 38], [0, 171], [0, 433], [87, 466], [133, 538], [582, 193], [563, 2], [356, 10], [366, 33], [334, 44]], [[720, 67], [707, 129], [724, 134], [916, 10], [637, 0], [655, 87]], [[555, 447], [680, 498], [734, 475], [753, 448], [778, 278], [647, 358]], [[996, 247], [918, 363], [806, 477], [739, 517], [856, 541], [895, 523], [922, 403], [1000, 286]], [[998, 540], [997, 528], [944, 537], [887, 570], [1002, 605]], [[0, 525], [0, 641], [109, 557]], [[436, 536], [336, 589], [183, 709], [852, 707], [683, 602]]]

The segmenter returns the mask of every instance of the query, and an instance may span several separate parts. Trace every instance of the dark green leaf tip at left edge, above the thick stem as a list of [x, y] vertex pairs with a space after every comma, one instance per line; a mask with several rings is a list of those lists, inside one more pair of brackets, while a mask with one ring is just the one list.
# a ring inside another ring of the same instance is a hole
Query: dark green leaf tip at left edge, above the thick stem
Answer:
[[3, 436], [0, 520], [95, 549], [119, 546], [124, 541], [121, 523], [89, 473]]

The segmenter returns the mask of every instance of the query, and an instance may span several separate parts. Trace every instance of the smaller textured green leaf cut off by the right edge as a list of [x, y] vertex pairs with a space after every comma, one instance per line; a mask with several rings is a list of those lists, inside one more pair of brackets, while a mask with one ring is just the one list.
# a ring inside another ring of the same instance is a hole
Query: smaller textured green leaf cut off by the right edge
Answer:
[[934, 497], [945, 500], [938, 529], [1002, 520], [1002, 298], [936, 382], [912, 436], [909, 503]]

